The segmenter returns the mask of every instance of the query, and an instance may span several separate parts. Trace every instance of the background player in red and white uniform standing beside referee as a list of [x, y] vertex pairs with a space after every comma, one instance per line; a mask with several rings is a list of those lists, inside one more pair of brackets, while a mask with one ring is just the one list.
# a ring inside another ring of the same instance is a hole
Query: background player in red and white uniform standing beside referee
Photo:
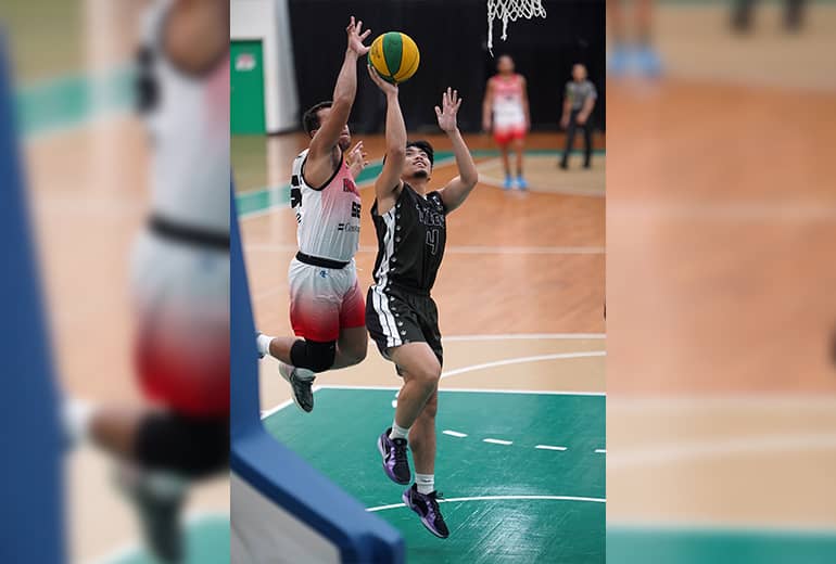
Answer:
[[[497, 74], [487, 80], [482, 103], [482, 128], [493, 131], [494, 141], [499, 145], [505, 167], [505, 190], [525, 190], [528, 183], [522, 177], [522, 152], [525, 132], [531, 125], [529, 94], [525, 77], [514, 72], [514, 59], [502, 55], [496, 62]], [[517, 152], [517, 177], [511, 177], [508, 162], [509, 145]]]

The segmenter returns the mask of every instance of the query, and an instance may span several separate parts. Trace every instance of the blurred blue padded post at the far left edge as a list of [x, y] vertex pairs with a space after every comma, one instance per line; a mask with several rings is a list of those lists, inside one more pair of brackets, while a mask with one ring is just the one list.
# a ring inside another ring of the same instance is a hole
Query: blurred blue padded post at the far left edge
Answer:
[[64, 562], [62, 439], [0, 29], [0, 562]]

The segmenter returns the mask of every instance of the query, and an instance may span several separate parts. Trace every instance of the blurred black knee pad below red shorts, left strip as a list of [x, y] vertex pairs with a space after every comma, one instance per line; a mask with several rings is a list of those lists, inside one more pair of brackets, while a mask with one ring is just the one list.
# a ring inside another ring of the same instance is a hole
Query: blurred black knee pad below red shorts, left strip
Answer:
[[153, 413], [140, 423], [135, 451], [150, 470], [198, 478], [229, 465], [229, 416]]

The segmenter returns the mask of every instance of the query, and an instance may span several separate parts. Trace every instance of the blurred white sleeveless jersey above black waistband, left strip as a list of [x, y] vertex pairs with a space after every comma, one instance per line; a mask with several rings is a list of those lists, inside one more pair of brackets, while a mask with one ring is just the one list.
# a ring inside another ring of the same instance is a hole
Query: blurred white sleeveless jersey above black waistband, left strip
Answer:
[[163, 49], [173, 2], [145, 14], [139, 54], [140, 111], [151, 133], [151, 213], [229, 232], [229, 53], [205, 74], [177, 68]]

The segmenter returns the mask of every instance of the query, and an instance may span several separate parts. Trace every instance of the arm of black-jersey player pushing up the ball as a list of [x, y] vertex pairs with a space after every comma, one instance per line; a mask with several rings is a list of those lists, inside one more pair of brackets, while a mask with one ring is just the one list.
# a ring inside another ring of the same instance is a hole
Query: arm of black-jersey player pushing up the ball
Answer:
[[385, 214], [395, 205], [403, 182], [401, 172], [406, 161], [406, 125], [397, 99], [397, 85], [387, 82], [369, 66], [369, 76], [387, 95], [387, 158], [383, 170], [375, 181], [378, 214]]

